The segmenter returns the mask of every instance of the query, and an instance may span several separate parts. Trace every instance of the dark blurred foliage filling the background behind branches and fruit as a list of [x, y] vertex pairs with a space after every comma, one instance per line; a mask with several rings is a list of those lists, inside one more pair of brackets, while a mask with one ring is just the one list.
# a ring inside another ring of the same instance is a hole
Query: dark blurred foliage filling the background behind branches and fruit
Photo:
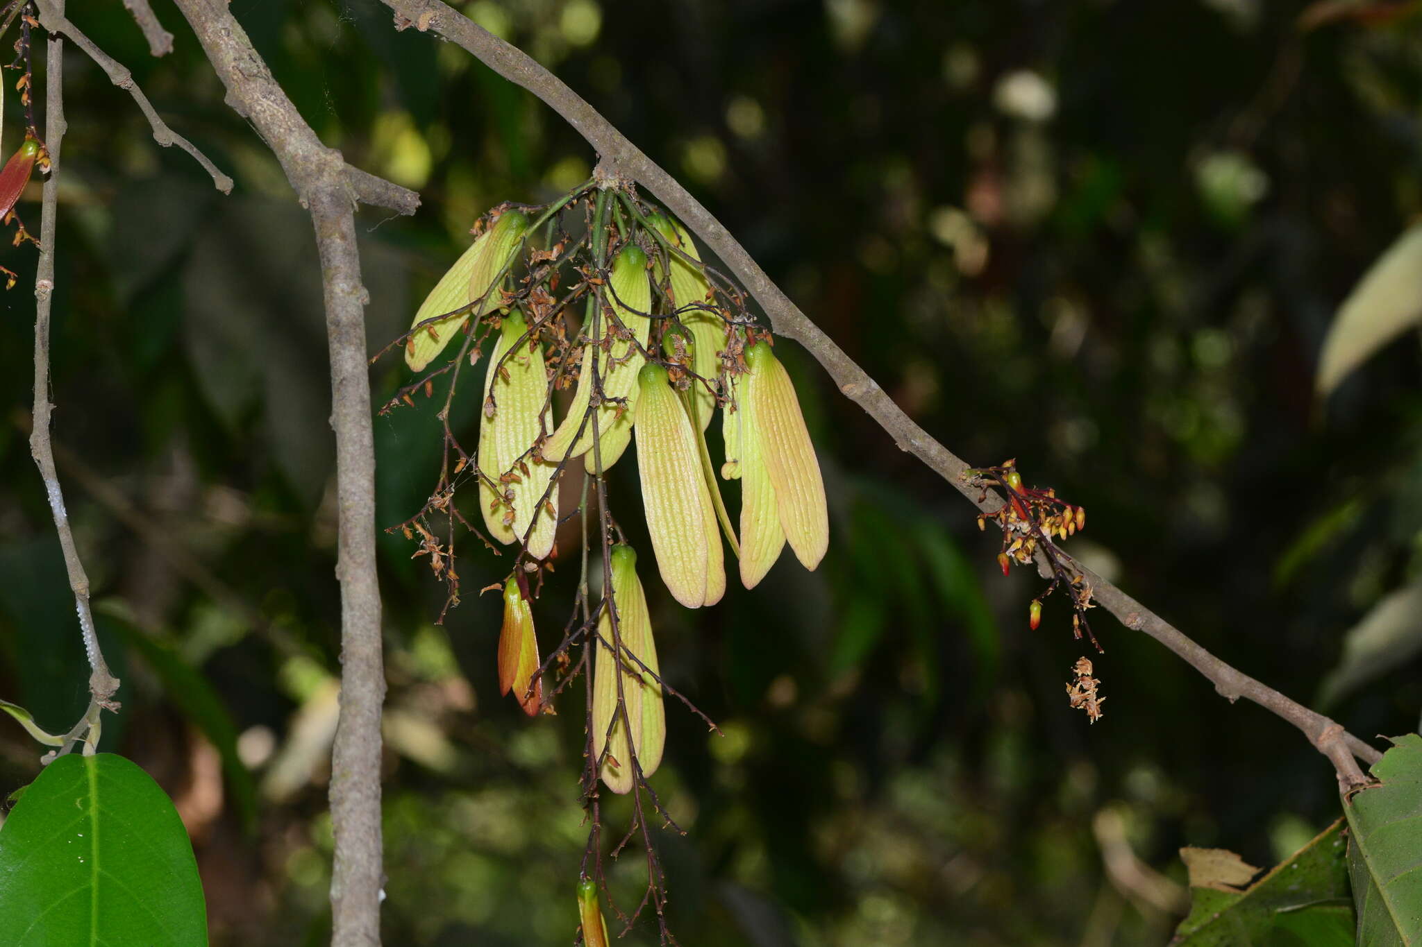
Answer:
[[[596, 160], [377, 3], [232, 6], [327, 143], [422, 195], [414, 219], [360, 216], [373, 351], [478, 214], [547, 200]], [[1071, 552], [1371, 735], [1422, 707], [1419, 352], [1388, 346], [1327, 400], [1314, 371], [1340, 301], [1422, 210], [1418, 6], [461, 9], [681, 176], [930, 433], [1085, 504]], [[104, 745], [176, 799], [213, 943], [316, 944], [340, 615], [319, 268], [280, 169], [156, 7], [176, 34], [162, 60], [119, 4], [71, 16], [237, 186], [213, 192], [67, 60], [54, 436], [125, 684]], [[82, 710], [85, 672], [26, 444], [33, 257], [7, 254], [21, 285], [0, 297], [0, 694], [53, 730]], [[829, 557], [815, 574], [785, 557], [694, 613], [647, 584], [664, 674], [724, 730], [668, 703], [654, 782], [688, 831], [661, 836], [681, 943], [1163, 943], [1179, 846], [1267, 865], [1335, 818], [1332, 774], [1295, 731], [1109, 616], [1105, 720], [1071, 713], [1088, 652], [1061, 601], [1030, 632], [1035, 578], [1004, 579], [956, 493], [781, 352], [830, 490]], [[407, 371], [387, 358], [373, 379], [384, 400]], [[475, 410], [458, 406], [465, 429]], [[384, 527], [435, 481], [434, 407], [375, 433]], [[634, 510], [630, 467], [611, 490]], [[505, 569], [476, 545], [466, 589]], [[411, 552], [381, 537], [387, 943], [570, 943], [582, 687], [556, 718], [501, 700], [496, 596], [435, 626], [442, 586]], [[536, 606], [545, 649], [572, 574]], [[1340, 676], [1364, 616], [1385, 646]], [[37, 757], [0, 727], [0, 792]], [[623, 801], [607, 812], [626, 822]], [[636, 902], [638, 853], [616, 877]], [[654, 940], [644, 921], [624, 943]]]

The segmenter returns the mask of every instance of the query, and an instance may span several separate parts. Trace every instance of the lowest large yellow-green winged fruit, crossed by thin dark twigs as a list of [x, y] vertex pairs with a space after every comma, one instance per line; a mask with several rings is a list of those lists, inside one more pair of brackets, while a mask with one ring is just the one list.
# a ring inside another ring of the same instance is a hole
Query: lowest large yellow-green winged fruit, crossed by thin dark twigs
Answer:
[[[636, 751], [643, 777], [656, 772], [667, 741], [667, 718], [661, 683], [654, 677], [661, 670], [651, 640], [647, 596], [637, 579], [637, 554], [630, 545], [613, 547], [611, 572], [617, 637], [604, 608], [597, 619], [597, 657], [593, 660], [593, 758], [602, 761], [599, 775], [609, 789], [630, 792], [636, 782], [631, 754]], [[617, 653], [614, 640], [621, 643]], [[619, 680], [626, 717], [617, 710]]]

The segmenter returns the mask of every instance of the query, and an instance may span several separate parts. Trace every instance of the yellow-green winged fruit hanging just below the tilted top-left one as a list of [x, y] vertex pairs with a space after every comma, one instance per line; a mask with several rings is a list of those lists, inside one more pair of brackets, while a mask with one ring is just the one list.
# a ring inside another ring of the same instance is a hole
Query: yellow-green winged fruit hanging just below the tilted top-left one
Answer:
[[553, 551], [557, 528], [557, 488], [549, 488], [557, 466], [530, 454], [538, 436], [553, 427], [553, 412], [546, 405], [543, 346], [529, 336], [523, 315], [510, 311], [483, 378], [479, 508], [495, 540], [508, 544], [526, 537], [529, 555], [536, 559]]

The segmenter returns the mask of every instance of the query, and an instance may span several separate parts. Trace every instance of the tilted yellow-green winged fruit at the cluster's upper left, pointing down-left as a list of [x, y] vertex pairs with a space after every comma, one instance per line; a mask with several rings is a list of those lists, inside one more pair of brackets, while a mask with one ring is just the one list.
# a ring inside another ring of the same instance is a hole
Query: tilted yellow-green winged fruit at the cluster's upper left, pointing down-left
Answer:
[[405, 341], [405, 365], [419, 372], [444, 351], [469, 317], [479, 318], [499, 308], [499, 283], [529, 229], [529, 217], [522, 210], [505, 210], [489, 224], [474, 244], [439, 277], [439, 283], [425, 297], [415, 312], [411, 328], [445, 312], [471, 308], [421, 327]]

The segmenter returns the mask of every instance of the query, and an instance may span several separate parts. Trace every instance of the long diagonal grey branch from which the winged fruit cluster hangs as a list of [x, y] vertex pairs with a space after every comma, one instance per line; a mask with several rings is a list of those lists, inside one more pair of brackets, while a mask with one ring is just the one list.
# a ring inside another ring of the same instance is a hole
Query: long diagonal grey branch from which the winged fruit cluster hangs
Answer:
[[[994, 513], [1003, 505], [1001, 497], [995, 493], [984, 496], [981, 488], [967, 483], [963, 474], [968, 470], [968, 466], [916, 425], [884, 393], [875, 379], [869, 378], [833, 339], [825, 335], [809, 317], [801, 312], [799, 307], [765, 275], [765, 271], [751, 258], [745, 247], [731, 236], [711, 212], [702, 207], [685, 187], [654, 160], [647, 158], [641, 149], [627, 141], [611, 122], [603, 118], [562, 80], [539, 65], [538, 61], [522, 50], [481, 28], [468, 17], [441, 3], [441, 0], [381, 1], [395, 13], [397, 28], [404, 30], [414, 26], [419, 31], [434, 31], [468, 50], [475, 58], [503, 78], [543, 99], [597, 150], [602, 163], [610, 165], [610, 172], [640, 183], [680, 217], [693, 233], [701, 237], [761, 304], [761, 308], [765, 310], [765, 314], [771, 319], [771, 328], [775, 334], [792, 338], [803, 345], [825, 371], [829, 372], [829, 376], [835, 379], [839, 390], [863, 407], [893, 437], [900, 450], [912, 453], [937, 471], [983, 511]], [[1061, 555], [1065, 559], [1071, 558], [1065, 554]], [[1074, 562], [1074, 565], [1089, 576], [1096, 601], [1123, 625], [1150, 635], [1183, 657], [1213, 681], [1216, 690], [1224, 697], [1230, 700], [1249, 697], [1298, 727], [1308, 741], [1334, 762], [1340, 779], [1348, 782], [1364, 779], [1352, 755], [1367, 762], [1372, 762], [1381, 755], [1364, 741], [1344, 731], [1332, 720], [1308, 710], [1253, 677], [1243, 674], [1219, 657], [1214, 657], [1186, 637], [1179, 629], [1099, 575], [1082, 568], [1079, 564]], [[1041, 555], [1038, 566], [1045, 568], [1045, 561]]]

